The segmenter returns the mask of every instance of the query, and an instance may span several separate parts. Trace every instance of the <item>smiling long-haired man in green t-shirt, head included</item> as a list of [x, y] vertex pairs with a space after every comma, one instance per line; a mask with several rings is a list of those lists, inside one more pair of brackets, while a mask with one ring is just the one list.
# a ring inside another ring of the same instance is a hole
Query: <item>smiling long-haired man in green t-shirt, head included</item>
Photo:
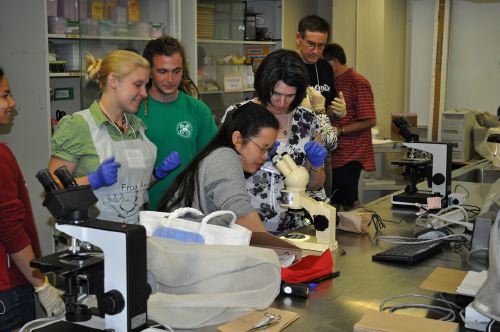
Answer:
[[184, 48], [177, 39], [163, 36], [151, 40], [143, 55], [151, 65], [150, 87], [137, 115], [146, 123], [146, 135], [158, 147], [157, 164], [177, 149], [182, 160], [179, 168], [149, 190], [150, 209], [156, 210], [162, 194], [212, 139], [217, 126], [207, 105], [191, 96], [194, 85]]

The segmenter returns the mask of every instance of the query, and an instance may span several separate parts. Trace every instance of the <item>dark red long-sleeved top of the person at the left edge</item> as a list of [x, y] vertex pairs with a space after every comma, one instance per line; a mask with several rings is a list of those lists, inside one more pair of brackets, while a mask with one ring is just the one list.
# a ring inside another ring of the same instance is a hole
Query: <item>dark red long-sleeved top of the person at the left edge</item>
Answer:
[[24, 177], [16, 158], [0, 144], [0, 291], [28, 283], [8, 254], [31, 244], [40, 257], [40, 244]]

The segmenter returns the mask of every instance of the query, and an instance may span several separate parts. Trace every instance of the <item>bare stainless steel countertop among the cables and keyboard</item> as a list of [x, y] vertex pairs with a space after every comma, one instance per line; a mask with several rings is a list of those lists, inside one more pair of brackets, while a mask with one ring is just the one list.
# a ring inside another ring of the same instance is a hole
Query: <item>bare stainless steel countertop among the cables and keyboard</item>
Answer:
[[[473, 163], [454, 171], [453, 177], [475, 168], [484, 168], [485, 165], [482, 162]], [[490, 185], [452, 181], [452, 191], [455, 191], [455, 187], [456, 191], [469, 192], [466, 204], [481, 207]], [[367, 209], [376, 211], [384, 220], [392, 221], [385, 222], [386, 228], [381, 235], [413, 236], [418, 230], [414, 222], [415, 215], [408, 209], [393, 208], [390, 201], [388, 195], [366, 205]], [[373, 254], [393, 245], [378, 243], [373, 229], [368, 234], [337, 231], [337, 241], [339, 250], [335, 253], [335, 270], [341, 271], [338, 278], [322, 282], [308, 299], [279, 296], [273, 304], [274, 307], [300, 315], [286, 331], [352, 331], [363, 313], [367, 309], [378, 310], [384, 299], [404, 293], [434, 295], [434, 292], [420, 289], [419, 285], [436, 267], [468, 269], [466, 253], [449, 247], [409, 267], [372, 262]], [[427, 316], [426, 311], [413, 309], [404, 310], [404, 314]], [[216, 331], [216, 328], [207, 327], [199, 331]]]

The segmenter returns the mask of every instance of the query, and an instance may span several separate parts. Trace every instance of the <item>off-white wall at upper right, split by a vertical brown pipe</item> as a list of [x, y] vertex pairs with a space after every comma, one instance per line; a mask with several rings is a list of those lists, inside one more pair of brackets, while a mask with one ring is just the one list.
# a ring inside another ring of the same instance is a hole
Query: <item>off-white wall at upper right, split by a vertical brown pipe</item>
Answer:
[[[411, 0], [408, 111], [429, 125], [437, 0]], [[452, 0], [444, 110], [496, 114], [500, 104], [500, 0]]]

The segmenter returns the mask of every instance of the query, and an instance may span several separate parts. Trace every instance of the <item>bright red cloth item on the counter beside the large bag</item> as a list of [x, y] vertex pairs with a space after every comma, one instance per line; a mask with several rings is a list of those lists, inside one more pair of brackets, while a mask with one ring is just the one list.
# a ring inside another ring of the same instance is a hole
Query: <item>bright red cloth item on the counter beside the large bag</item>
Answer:
[[333, 257], [330, 250], [321, 256], [306, 256], [290, 267], [281, 268], [281, 280], [289, 284], [308, 282], [324, 277], [333, 271]]

